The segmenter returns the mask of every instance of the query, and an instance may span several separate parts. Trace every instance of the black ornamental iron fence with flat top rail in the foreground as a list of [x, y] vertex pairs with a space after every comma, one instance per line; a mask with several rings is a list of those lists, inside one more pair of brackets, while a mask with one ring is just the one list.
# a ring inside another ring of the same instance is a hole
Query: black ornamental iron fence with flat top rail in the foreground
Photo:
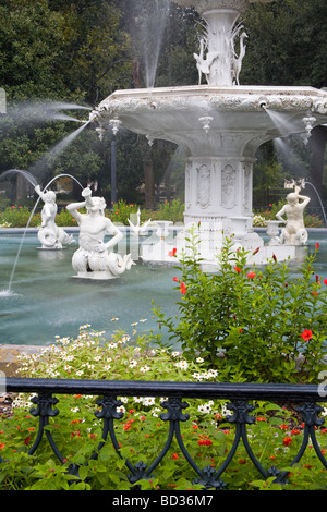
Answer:
[[[164, 460], [174, 437], [182, 454], [194, 470], [194, 484], [203, 486], [204, 489], [219, 490], [226, 488], [221, 476], [241, 443], [243, 443], [253, 465], [264, 479], [276, 477], [276, 483], [286, 483], [288, 472], [280, 471], [275, 466], [270, 468], [263, 467], [259, 459], [252, 451], [247, 425], [253, 425], [256, 422], [256, 418], [251, 416], [251, 413], [256, 409], [253, 404], [256, 401], [294, 403], [304, 428], [301, 448], [295, 458], [290, 461], [290, 466], [300, 462], [311, 440], [317, 458], [323, 466], [327, 468], [327, 460], [323, 454], [324, 450], [319, 447], [315, 431], [317, 427], [324, 424], [324, 418], [318, 417], [323, 411], [319, 403], [327, 402], [327, 398], [317, 385], [8, 378], [5, 389], [7, 392], [11, 393], [35, 393], [32, 399], [35, 406], [32, 407], [31, 414], [39, 417], [39, 425], [34, 444], [28, 453], [34, 454], [39, 448], [40, 441], [46, 437], [61, 463], [64, 461], [64, 454], [60, 453], [51, 432], [45, 428], [49, 425], [50, 417], [60, 414], [57, 407], [58, 404], [60, 407], [58, 395], [87, 394], [98, 397], [96, 403], [100, 406], [100, 410], [95, 411], [95, 416], [102, 420], [102, 440], [95, 448], [93, 459], [97, 458], [99, 450], [108, 440], [111, 440], [118, 456], [122, 459], [121, 446], [116, 437], [114, 425], [116, 422], [123, 419], [124, 413], [118, 411], [122, 402], [117, 397], [165, 397], [161, 406], [166, 412], [159, 414], [160, 419], [168, 424], [167, 439], [164, 441], [164, 447], [158, 447], [158, 454], [148, 464], [140, 461], [133, 465], [128, 459], [124, 460], [130, 471], [129, 480], [135, 485], [141, 479], [149, 479], [154, 476], [155, 468]], [[220, 467], [213, 467], [211, 465], [199, 467], [189, 453], [180, 429], [181, 422], [192, 422], [192, 418], [185, 412], [189, 406], [189, 403], [184, 401], [185, 399], [228, 400], [230, 402], [228, 409], [232, 411], [232, 414], [226, 417], [226, 422], [235, 425], [235, 434], [232, 447]], [[1, 462], [4, 461], [0, 458], [0, 471]], [[78, 466], [72, 464], [69, 473], [78, 476]]]

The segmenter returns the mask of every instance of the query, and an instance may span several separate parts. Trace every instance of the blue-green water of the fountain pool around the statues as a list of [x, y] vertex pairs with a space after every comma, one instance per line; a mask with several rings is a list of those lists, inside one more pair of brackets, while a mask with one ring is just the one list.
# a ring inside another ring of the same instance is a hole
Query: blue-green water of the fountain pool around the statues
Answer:
[[[0, 290], [7, 288], [12, 261], [21, 243], [22, 233], [0, 232]], [[169, 236], [175, 235], [173, 230]], [[150, 235], [149, 235], [150, 236]], [[77, 231], [74, 232], [77, 240]], [[136, 254], [137, 237], [124, 230], [128, 251]], [[146, 239], [141, 243], [146, 242]], [[154, 241], [156, 242], [156, 241]], [[316, 270], [327, 278], [327, 232], [308, 230], [307, 249], [319, 243]], [[90, 324], [110, 338], [117, 329], [128, 334], [133, 330], [159, 331], [153, 318], [152, 301], [168, 316], [178, 313], [180, 298], [172, 278], [179, 276], [173, 265], [155, 265], [133, 259], [136, 265], [119, 279], [89, 281], [73, 278], [72, 254], [75, 246], [64, 251], [37, 251], [39, 241], [35, 230], [28, 231], [15, 269], [12, 293], [0, 293], [0, 345], [46, 345], [55, 337], [76, 337], [82, 325]], [[305, 254], [305, 247], [303, 255]], [[301, 264], [301, 257], [291, 263]], [[118, 320], [113, 320], [118, 318]], [[133, 326], [135, 324], [135, 326]], [[165, 333], [164, 333], [165, 334]], [[168, 336], [167, 336], [168, 341]]]

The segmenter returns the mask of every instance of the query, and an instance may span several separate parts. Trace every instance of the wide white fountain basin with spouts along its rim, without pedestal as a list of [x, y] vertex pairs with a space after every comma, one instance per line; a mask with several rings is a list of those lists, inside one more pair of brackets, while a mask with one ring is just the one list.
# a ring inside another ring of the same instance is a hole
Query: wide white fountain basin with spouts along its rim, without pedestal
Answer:
[[171, 141], [192, 155], [253, 157], [266, 141], [304, 132], [308, 115], [312, 127], [326, 123], [326, 90], [199, 85], [118, 90], [89, 119], [101, 127], [119, 120], [149, 141]]

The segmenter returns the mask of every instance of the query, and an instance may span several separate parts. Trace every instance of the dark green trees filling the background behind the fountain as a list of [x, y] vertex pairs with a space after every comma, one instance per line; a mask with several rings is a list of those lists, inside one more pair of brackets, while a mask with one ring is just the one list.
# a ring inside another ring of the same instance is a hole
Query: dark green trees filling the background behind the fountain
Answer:
[[[193, 52], [198, 47], [201, 20], [192, 8], [170, 2], [168, 11], [168, 0], [1, 2], [0, 86], [7, 93], [8, 115], [0, 118], [0, 173], [31, 169], [76, 126], [46, 122], [36, 114], [35, 102], [94, 108], [116, 89], [145, 87], [147, 48], [158, 49], [156, 86], [197, 83]], [[327, 86], [326, 2], [252, 4], [240, 21], [249, 34], [243, 85]], [[84, 110], [68, 113], [87, 119]], [[283, 180], [290, 176], [311, 178], [325, 198], [326, 138], [326, 129], [315, 129], [310, 147], [291, 139], [287, 156], [272, 143], [262, 146], [254, 169], [254, 205], [278, 202]], [[145, 137], [121, 131], [117, 137], [118, 198], [148, 208], [165, 198], [183, 200], [184, 156], [179, 155], [171, 166], [177, 149], [166, 142], [155, 142], [149, 148]], [[63, 154], [37, 170], [37, 179], [45, 185], [66, 172], [84, 184], [96, 181], [108, 202], [110, 159], [110, 137], [100, 143], [88, 126]], [[13, 180], [8, 188], [12, 203], [26, 202], [22, 180]]]

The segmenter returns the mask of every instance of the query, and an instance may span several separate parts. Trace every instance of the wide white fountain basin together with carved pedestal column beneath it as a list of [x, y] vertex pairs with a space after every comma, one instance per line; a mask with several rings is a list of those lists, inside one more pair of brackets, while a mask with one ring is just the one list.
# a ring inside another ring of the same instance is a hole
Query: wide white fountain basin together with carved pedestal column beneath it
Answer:
[[[280, 112], [280, 124], [269, 111]], [[265, 142], [326, 122], [327, 93], [312, 87], [186, 86], [119, 90], [90, 114], [185, 148], [185, 223], [252, 215], [252, 166]], [[283, 122], [287, 121], [287, 122]], [[209, 229], [213, 229], [211, 227]]]

